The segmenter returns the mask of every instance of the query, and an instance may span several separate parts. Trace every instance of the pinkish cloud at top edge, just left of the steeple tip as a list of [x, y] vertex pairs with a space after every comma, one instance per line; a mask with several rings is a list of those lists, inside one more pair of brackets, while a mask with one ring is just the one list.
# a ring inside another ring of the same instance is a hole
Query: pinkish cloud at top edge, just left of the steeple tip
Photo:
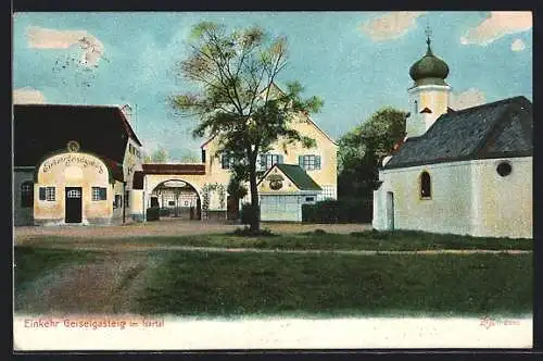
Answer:
[[374, 41], [383, 41], [399, 38], [415, 26], [418, 16], [424, 11], [396, 11], [389, 12], [379, 17], [374, 17], [361, 26], [362, 32]]

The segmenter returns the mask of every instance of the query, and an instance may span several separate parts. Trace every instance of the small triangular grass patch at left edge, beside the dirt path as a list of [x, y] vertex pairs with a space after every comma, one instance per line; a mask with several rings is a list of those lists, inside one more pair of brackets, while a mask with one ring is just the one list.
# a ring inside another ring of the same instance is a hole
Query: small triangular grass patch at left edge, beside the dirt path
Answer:
[[17, 246], [13, 250], [14, 285], [24, 287], [58, 266], [88, 262], [96, 257], [96, 252], [89, 251]]

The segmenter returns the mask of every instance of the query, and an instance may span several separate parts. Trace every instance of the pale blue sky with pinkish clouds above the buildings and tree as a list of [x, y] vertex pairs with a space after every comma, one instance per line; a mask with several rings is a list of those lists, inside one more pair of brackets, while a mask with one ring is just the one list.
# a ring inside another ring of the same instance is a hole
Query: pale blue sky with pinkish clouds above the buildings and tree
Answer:
[[174, 76], [201, 21], [258, 25], [286, 36], [278, 84], [299, 80], [324, 100], [312, 119], [338, 139], [383, 107], [408, 111], [409, 66], [431, 48], [450, 67], [451, 107], [532, 99], [531, 12], [21, 12], [13, 15], [15, 103], [123, 105], [146, 152], [198, 158], [195, 120], [167, 97], [190, 84]]

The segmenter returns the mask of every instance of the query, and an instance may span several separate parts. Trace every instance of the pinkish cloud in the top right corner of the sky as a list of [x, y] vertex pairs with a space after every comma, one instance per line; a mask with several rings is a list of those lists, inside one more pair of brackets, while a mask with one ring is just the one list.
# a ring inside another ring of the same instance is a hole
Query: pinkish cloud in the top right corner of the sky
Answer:
[[527, 32], [532, 28], [530, 11], [492, 11], [479, 25], [470, 28], [460, 37], [463, 45], [487, 46], [501, 37]]

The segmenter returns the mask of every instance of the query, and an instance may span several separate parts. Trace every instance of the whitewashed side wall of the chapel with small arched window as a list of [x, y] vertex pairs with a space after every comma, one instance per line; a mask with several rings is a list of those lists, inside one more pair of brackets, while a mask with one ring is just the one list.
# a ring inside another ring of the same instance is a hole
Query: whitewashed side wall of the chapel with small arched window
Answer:
[[[507, 159], [513, 172], [496, 172], [503, 159], [476, 160], [381, 171], [374, 192], [372, 226], [387, 229], [387, 192], [394, 194], [396, 229], [484, 237], [532, 237], [532, 158]], [[419, 197], [422, 171], [432, 197]]]

